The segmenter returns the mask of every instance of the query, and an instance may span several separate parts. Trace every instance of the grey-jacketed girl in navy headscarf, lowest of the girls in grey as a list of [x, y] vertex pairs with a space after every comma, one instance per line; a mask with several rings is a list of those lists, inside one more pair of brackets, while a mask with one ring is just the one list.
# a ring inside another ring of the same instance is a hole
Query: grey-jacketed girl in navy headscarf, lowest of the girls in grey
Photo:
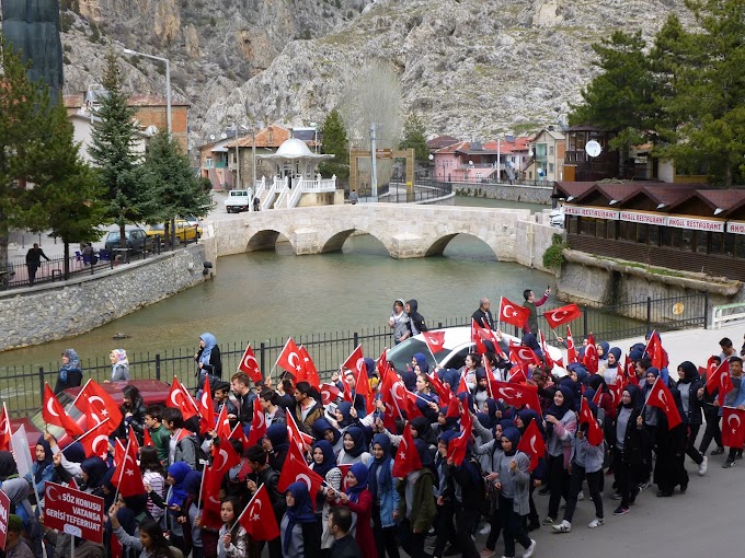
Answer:
[[[554, 425], [555, 428], [555, 425]], [[536, 550], [536, 542], [528, 537], [525, 525], [530, 505], [528, 493], [530, 485], [530, 457], [517, 451], [520, 433], [515, 427], [507, 427], [502, 432], [502, 451], [495, 463], [493, 474], [488, 479], [500, 492], [500, 523], [504, 537], [504, 555], [515, 556], [515, 540], [530, 558]]]

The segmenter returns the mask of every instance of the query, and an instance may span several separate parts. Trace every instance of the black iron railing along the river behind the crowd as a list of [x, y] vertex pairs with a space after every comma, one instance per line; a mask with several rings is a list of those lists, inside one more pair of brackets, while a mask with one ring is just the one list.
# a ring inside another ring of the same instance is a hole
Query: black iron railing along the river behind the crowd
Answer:
[[[546, 304], [539, 310], [552, 310], [561, 306], [561, 303]], [[597, 341], [642, 337], [651, 329], [669, 332], [691, 327], [706, 327], [709, 313], [709, 299], [707, 294], [691, 294], [689, 297], [674, 297], [667, 299], [643, 298], [627, 304], [603, 307], [581, 306], [582, 317], [574, 321], [570, 326], [574, 329], [573, 335], [586, 336], [593, 334]], [[498, 309], [494, 309], [495, 312]], [[428, 321], [431, 328], [468, 326], [471, 323], [468, 317], [451, 317], [442, 321]], [[545, 318], [539, 315], [539, 324]], [[500, 322], [501, 330], [519, 335], [518, 328]], [[554, 336], [546, 330], [547, 341], [559, 345]], [[565, 326], [558, 329], [560, 335], [565, 335]], [[256, 360], [265, 375], [272, 374], [277, 377], [274, 364], [282, 352], [288, 336], [252, 341], [251, 346], [256, 353]], [[386, 347], [393, 346], [391, 329], [388, 327], [369, 327], [358, 332], [332, 332], [310, 335], [293, 336], [297, 345], [303, 345], [319, 370], [321, 381], [328, 381], [331, 374], [339, 370], [339, 365], [346, 360], [355, 347], [363, 345], [367, 356], [377, 358]], [[578, 344], [577, 344], [578, 345]], [[245, 342], [236, 341], [220, 345], [222, 359], [222, 379], [229, 380], [245, 350]], [[161, 380], [170, 383], [174, 375], [193, 388], [196, 386], [196, 364], [194, 354], [196, 347], [182, 349], [165, 349], [158, 353], [129, 354], [129, 372], [135, 379]], [[111, 375], [111, 363], [107, 357], [88, 359], [81, 362], [85, 379], [92, 377], [102, 382]], [[54, 386], [60, 363], [46, 365], [22, 365], [0, 368], [0, 399], [8, 405], [8, 410], [13, 417], [31, 415], [39, 409], [41, 394], [44, 384], [48, 382]]]

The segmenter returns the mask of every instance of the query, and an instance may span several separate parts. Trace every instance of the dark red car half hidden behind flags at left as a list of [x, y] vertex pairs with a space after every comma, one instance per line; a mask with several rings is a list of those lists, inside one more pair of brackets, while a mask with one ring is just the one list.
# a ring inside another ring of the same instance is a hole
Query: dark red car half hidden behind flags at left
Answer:
[[[129, 382], [112, 382], [107, 384], [102, 383], [101, 387], [103, 387], [106, 393], [113, 397], [116, 404], [121, 406], [124, 403], [124, 394], [122, 393], [122, 390], [126, 385], [134, 385], [137, 387], [137, 390], [139, 390], [140, 395], [145, 400], [146, 407], [149, 405], [164, 404], [165, 399], [168, 398], [169, 391], [171, 390], [169, 384], [161, 382], [160, 380], [130, 380]], [[62, 405], [62, 407], [65, 407], [67, 415], [78, 422], [83, 431], [87, 431], [85, 416], [72, 406], [72, 402], [81, 390], [82, 386], [68, 387], [64, 392], [57, 394], [57, 399]], [[60, 445], [60, 447], [65, 447], [70, 442], [72, 442], [67, 432], [65, 432], [61, 428], [54, 425], [47, 425], [44, 421], [41, 409], [31, 417], [11, 419], [11, 432], [15, 432], [15, 430], [18, 430], [21, 425], [23, 425], [26, 430], [26, 438], [28, 439], [28, 446], [31, 449], [32, 456], [36, 455], [36, 441], [45, 430], [48, 430], [49, 433], [51, 433], [51, 435], [57, 439], [57, 443]]]

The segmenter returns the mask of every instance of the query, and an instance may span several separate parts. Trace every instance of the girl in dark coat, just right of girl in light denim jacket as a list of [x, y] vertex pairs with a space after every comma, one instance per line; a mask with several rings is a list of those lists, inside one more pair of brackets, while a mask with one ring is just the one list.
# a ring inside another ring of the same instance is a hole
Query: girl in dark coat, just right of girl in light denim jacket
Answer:
[[426, 442], [417, 438], [414, 440], [414, 447], [422, 467], [399, 480], [396, 487], [399, 492], [399, 508], [393, 512], [393, 520], [401, 524], [403, 550], [411, 558], [424, 558], [424, 538], [437, 512], [433, 497], [435, 474]]

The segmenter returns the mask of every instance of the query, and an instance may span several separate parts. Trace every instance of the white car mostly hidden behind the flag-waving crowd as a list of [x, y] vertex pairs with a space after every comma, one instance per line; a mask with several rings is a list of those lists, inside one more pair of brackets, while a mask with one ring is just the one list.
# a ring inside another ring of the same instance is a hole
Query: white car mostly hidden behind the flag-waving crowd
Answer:
[[[445, 342], [443, 344], [443, 350], [435, 352], [434, 358], [429, 353], [426, 342], [424, 342], [424, 337], [420, 334], [390, 349], [387, 354], [388, 361], [393, 364], [398, 372], [402, 372], [406, 370], [408, 364], [411, 364], [411, 359], [414, 354], [421, 352], [425, 356], [429, 370], [433, 370], [437, 364], [444, 369], [462, 368], [466, 364], [466, 356], [475, 351], [475, 346], [471, 342], [471, 328], [447, 327], [437, 329], [437, 332], [445, 332]], [[509, 341], [517, 345], [520, 344], [520, 340], [512, 335], [502, 334], [502, 337], [506, 344], [509, 344]], [[564, 358], [563, 352], [557, 347], [547, 345], [547, 349], [554, 362]], [[435, 362], [435, 359], [437, 359], [437, 362]], [[561, 377], [566, 375], [566, 370], [554, 364], [553, 373]]]

